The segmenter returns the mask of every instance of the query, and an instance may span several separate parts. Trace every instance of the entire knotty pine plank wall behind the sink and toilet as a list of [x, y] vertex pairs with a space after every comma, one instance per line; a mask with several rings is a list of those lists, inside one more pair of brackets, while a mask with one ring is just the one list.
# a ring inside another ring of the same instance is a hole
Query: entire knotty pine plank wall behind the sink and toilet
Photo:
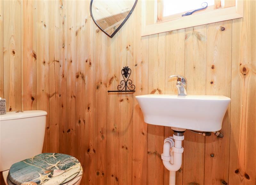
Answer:
[[[256, 184], [256, 1], [244, 18], [140, 37], [139, 1], [110, 39], [89, 1], [0, 1], [0, 96], [7, 110], [48, 112], [44, 152], [78, 158], [82, 184], [168, 184], [168, 127], [143, 122], [136, 95], [225, 95], [223, 138], [185, 132], [177, 184]], [[135, 93], [107, 93], [132, 69]]]

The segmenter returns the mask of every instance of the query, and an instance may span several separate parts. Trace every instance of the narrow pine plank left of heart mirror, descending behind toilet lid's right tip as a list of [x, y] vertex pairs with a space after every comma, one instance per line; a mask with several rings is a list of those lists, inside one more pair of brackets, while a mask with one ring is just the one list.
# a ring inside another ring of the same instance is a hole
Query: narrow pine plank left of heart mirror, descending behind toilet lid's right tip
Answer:
[[[76, 3], [76, 158], [85, 169], [85, 1]], [[85, 184], [85, 175], [82, 177]]]

